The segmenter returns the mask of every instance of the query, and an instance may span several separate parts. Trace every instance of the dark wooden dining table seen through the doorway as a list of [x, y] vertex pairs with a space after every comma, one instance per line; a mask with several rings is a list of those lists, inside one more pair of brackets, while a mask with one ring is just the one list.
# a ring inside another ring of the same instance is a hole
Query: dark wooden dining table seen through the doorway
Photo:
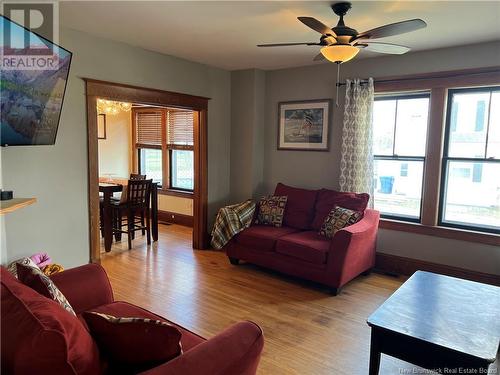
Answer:
[[[102, 235], [104, 237], [104, 250], [111, 251], [113, 243], [113, 209], [111, 207], [111, 198], [113, 194], [123, 191], [123, 187], [127, 185], [128, 180], [111, 180], [104, 182], [99, 181], [99, 192], [103, 195], [102, 200]], [[158, 241], [158, 184], [153, 183], [151, 186], [151, 236], [153, 241]]]

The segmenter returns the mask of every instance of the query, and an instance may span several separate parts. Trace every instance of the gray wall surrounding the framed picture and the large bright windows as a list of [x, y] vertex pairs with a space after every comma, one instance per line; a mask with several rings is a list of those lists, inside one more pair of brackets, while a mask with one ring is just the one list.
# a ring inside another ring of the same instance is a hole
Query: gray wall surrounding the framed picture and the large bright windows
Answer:
[[[342, 66], [345, 77], [384, 77], [500, 64], [500, 43], [416, 52], [403, 56], [358, 59]], [[336, 66], [320, 64], [266, 72], [263, 191], [277, 182], [308, 188], [337, 188], [343, 97], [333, 108], [329, 152], [277, 151], [278, 102], [335, 98]], [[241, 90], [241, 88], [240, 88]], [[342, 92], [342, 90], [341, 90]], [[242, 172], [241, 172], [242, 173]], [[232, 179], [237, 176], [232, 175]], [[236, 192], [231, 191], [232, 196]], [[404, 257], [500, 274], [500, 249], [438, 237], [397, 231], [379, 232], [378, 251]]]

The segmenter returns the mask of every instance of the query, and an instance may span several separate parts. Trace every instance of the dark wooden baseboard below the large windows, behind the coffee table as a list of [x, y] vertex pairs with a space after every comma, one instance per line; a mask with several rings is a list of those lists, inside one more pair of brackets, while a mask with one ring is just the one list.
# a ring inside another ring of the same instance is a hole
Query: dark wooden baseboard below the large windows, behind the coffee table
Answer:
[[500, 286], [500, 275], [467, 270], [444, 264], [426, 262], [418, 259], [399, 257], [396, 255], [377, 253], [375, 270], [379, 272], [410, 276], [415, 271], [428, 271], [443, 275], [459, 277], [480, 283]]

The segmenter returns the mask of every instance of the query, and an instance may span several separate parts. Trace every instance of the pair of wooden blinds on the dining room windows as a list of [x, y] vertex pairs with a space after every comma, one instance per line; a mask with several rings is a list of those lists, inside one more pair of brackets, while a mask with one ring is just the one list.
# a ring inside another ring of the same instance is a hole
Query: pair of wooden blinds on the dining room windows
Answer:
[[[163, 125], [162, 115], [166, 124]], [[193, 150], [193, 111], [167, 109], [136, 112], [136, 147], [162, 148], [162, 130], [166, 130], [167, 148]]]

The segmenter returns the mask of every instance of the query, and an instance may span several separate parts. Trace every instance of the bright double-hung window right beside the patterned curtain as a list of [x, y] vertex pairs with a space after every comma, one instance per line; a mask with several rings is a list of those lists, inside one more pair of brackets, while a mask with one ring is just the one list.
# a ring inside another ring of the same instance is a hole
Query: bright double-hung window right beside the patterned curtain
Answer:
[[429, 94], [375, 99], [374, 207], [383, 217], [420, 220], [428, 112]]

